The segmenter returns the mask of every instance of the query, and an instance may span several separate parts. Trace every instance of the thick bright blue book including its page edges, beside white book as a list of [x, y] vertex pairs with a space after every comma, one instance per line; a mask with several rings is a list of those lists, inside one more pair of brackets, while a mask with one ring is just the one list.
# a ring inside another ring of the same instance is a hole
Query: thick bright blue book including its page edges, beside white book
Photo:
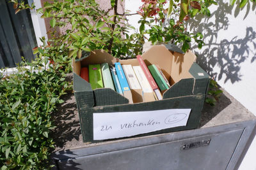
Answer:
[[117, 74], [120, 86], [122, 88], [124, 97], [126, 97], [129, 100], [129, 103], [133, 103], [132, 92], [131, 92], [131, 89], [129, 87], [128, 81], [125, 77], [124, 70], [122, 69], [120, 62], [115, 63], [115, 69], [116, 69], [116, 74]]

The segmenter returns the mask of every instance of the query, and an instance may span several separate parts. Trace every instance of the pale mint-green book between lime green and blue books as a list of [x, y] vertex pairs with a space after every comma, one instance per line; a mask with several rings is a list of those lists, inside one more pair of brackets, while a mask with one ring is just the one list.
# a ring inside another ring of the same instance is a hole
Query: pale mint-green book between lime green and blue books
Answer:
[[108, 63], [100, 64], [100, 68], [101, 68], [104, 87], [115, 90]]

